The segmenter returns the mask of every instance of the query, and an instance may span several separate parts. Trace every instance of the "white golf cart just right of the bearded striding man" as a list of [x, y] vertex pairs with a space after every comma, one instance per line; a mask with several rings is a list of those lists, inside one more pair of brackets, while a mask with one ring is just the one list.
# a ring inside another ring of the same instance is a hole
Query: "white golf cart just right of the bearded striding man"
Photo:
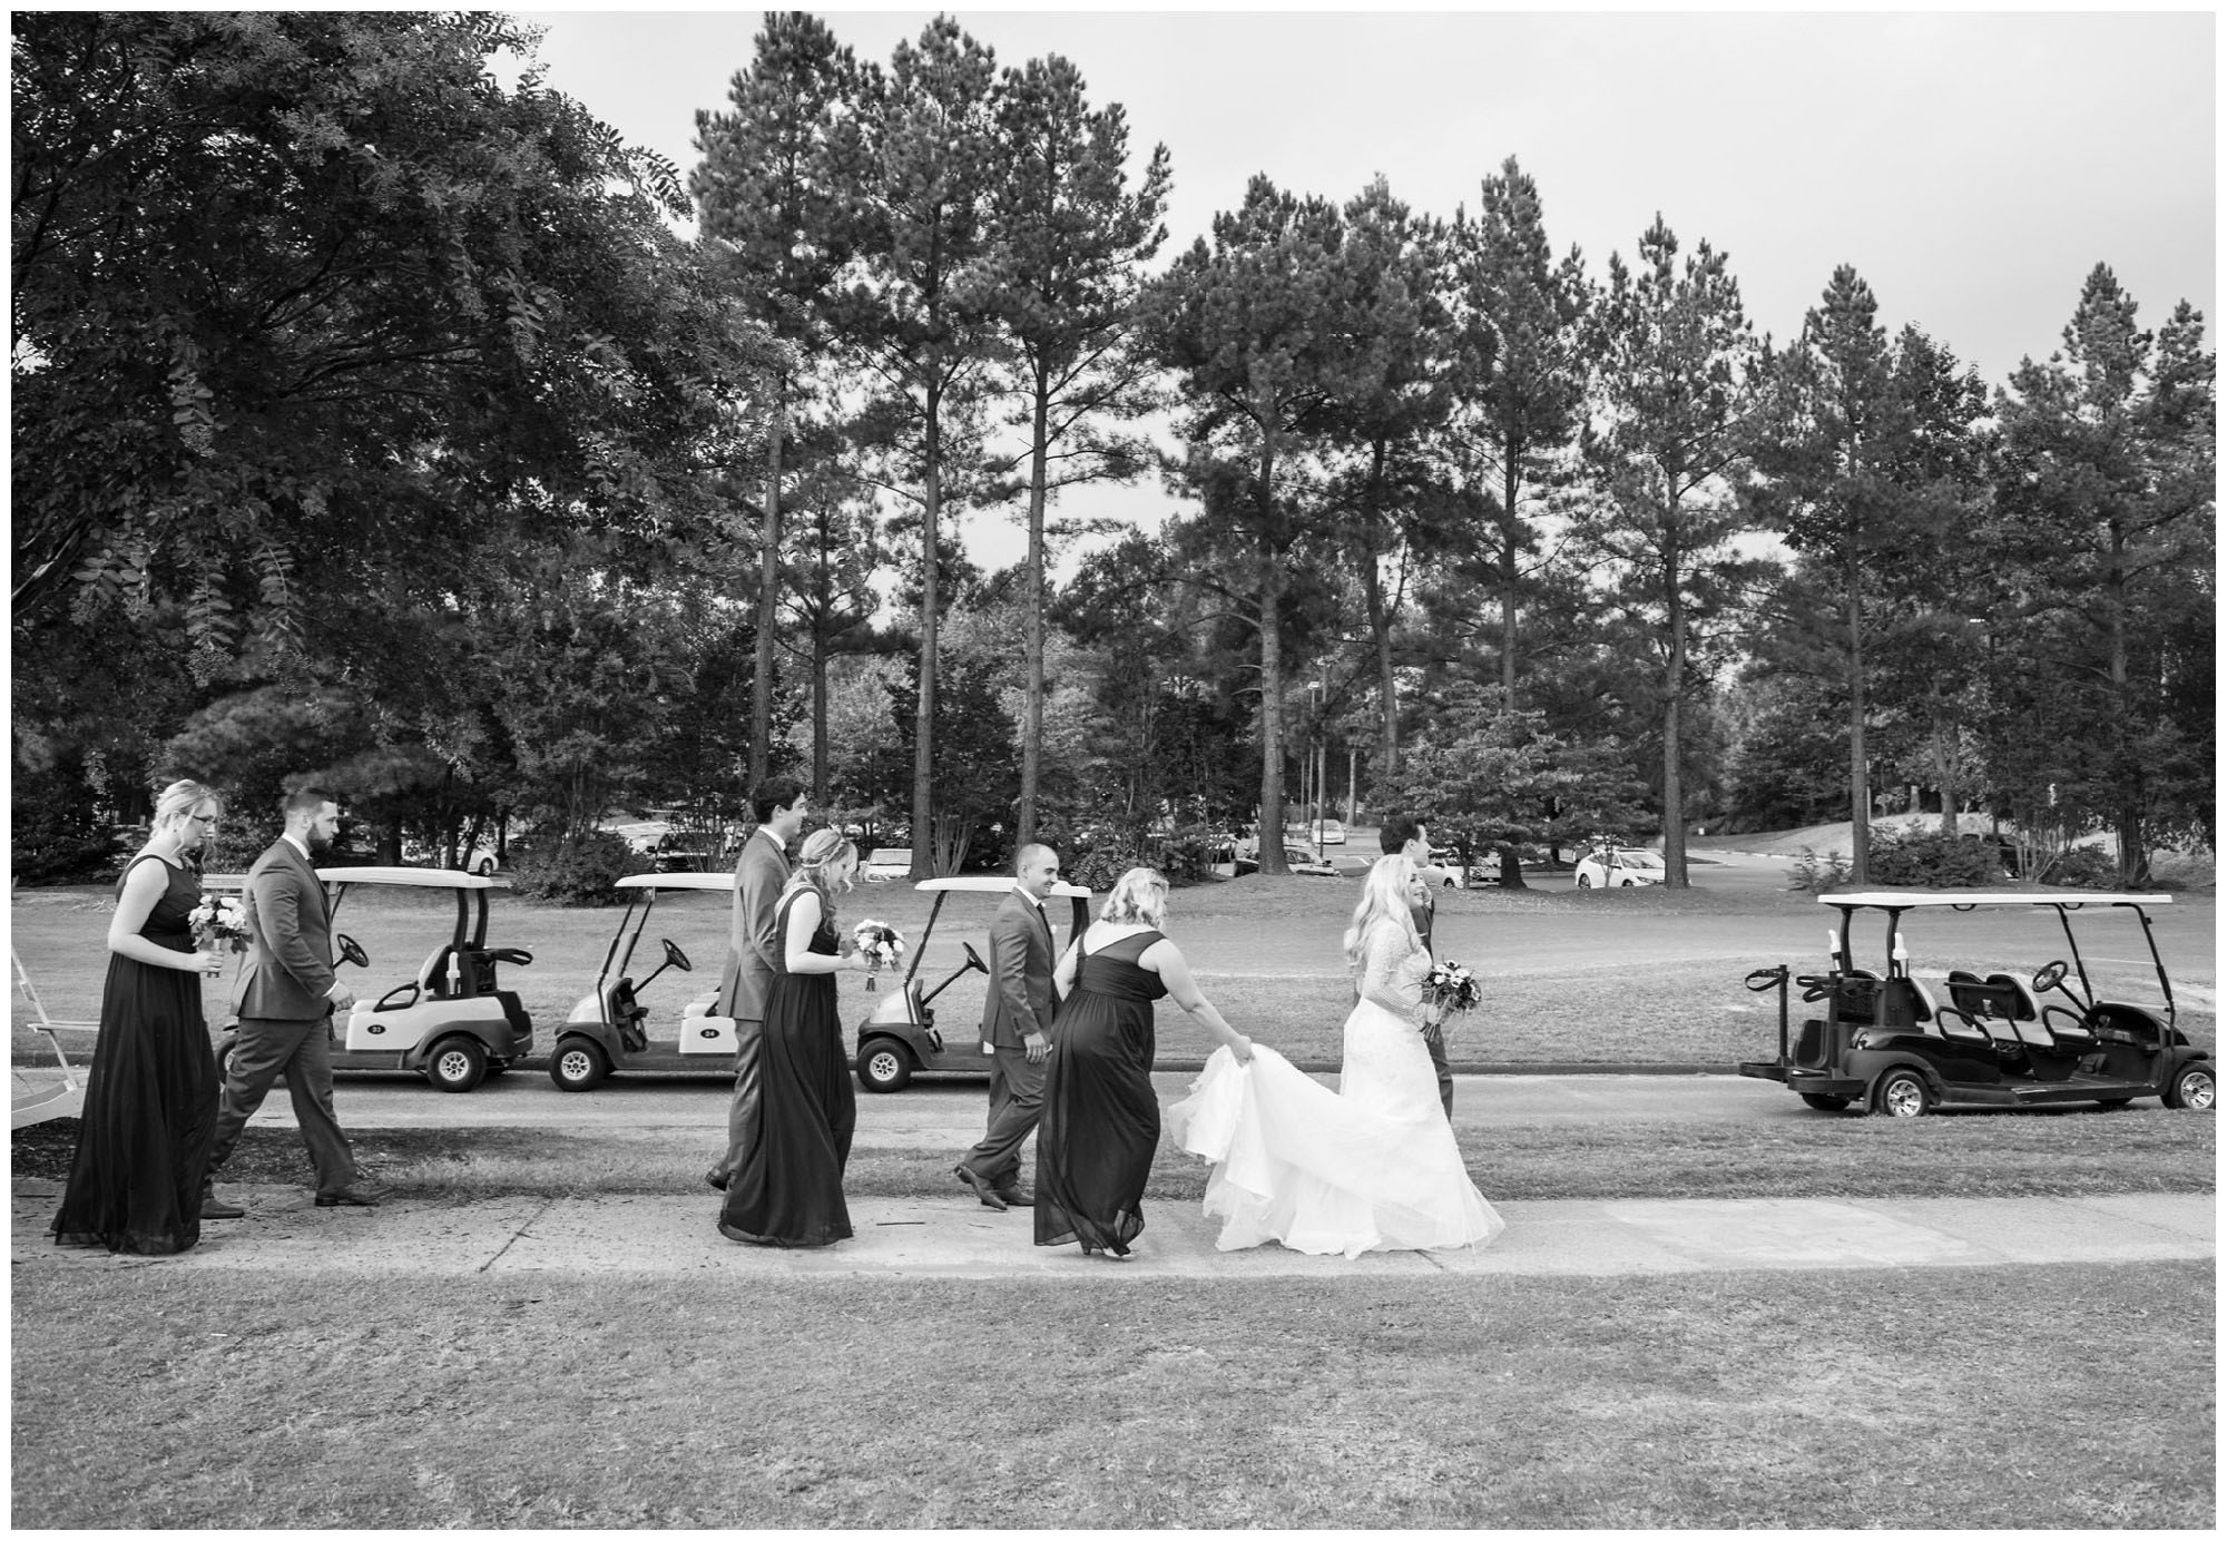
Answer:
[[[457, 924], [448, 942], [425, 955], [416, 975], [376, 1000], [359, 995], [345, 1022], [334, 1018], [339, 1042], [332, 1069], [421, 1071], [441, 1091], [470, 1091], [532, 1053], [532, 1018], [517, 991], [499, 989], [494, 966], [526, 966], [534, 955], [517, 946], [488, 946], [490, 880], [439, 866], [321, 866], [316, 877], [332, 897], [334, 920], [354, 886], [448, 889], [457, 895]], [[341, 962], [359, 969], [372, 964], [354, 938], [336, 933], [336, 944]], [[238, 1029], [225, 1035], [218, 1062], [232, 1053], [236, 1035]]]

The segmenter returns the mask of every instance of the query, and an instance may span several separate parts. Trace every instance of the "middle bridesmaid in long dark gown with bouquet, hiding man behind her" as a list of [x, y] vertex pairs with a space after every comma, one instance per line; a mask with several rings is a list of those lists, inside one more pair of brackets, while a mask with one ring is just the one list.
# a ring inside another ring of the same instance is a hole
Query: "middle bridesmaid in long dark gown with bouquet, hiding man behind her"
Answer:
[[869, 969], [837, 955], [835, 897], [851, 891], [857, 846], [824, 828], [804, 842], [782, 891], [782, 960], [766, 989], [764, 1089], [757, 1125], [726, 1180], [719, 1234], [757, 1247], [826, 1247], [851, 1236], [842, 1174], [857, 1091], [842, 1051], [835, 975]]

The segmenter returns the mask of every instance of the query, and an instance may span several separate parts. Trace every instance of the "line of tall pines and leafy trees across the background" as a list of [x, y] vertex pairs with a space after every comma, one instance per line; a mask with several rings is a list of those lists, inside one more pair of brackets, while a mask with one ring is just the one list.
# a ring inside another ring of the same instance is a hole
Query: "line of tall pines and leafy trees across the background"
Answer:
[[2214, 840], [2216, 365], [2102, 263], [1989, 387], [1848, 267], [1777, 345], [1661, 216], [1557, 252], [1514, 158], [1165, 254], [1165, 147], [951, 18], [768, 13], [686, 176], [510, 16], [11, 29], [18, 871], [169, 773], [392, 853], [784, 770], [915, 875], [1276, 873], [1332, 750], [1510, 880], [1833, 817], [1862, 877], [1904, 788], [2129, 884]]

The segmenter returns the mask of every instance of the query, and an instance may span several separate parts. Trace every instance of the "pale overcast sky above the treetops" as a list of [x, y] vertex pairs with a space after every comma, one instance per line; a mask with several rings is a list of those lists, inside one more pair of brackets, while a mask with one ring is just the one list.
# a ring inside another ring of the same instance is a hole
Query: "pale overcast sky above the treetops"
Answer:
[[[806, 9], [880, 65], [933, 16]], [[695, 111], [726, 105], [764, 18], [528, 16], [548, 27], [548, 85], [684, 174]], [[2180, 298], [2214, 316], [2209, 11], [951, 16], [1000, 65], [1067, 56], [1093, 105], [1127, 109], [1138, 165], [1169, 147], [1165, 254], [1254, 171], [1338, 203], [1381, 171], [1410, 207], [1452, 216], [1512, 154], [1557, 252], [1579, 245], [1601, 276], [1659, 209], [1688, 249], [1728, 254], [1782, 343], [1837, 263], [1888, 327], [1915, 321], [1989, 385], [2056, 350], [2098, 261], [2147, 325]]]

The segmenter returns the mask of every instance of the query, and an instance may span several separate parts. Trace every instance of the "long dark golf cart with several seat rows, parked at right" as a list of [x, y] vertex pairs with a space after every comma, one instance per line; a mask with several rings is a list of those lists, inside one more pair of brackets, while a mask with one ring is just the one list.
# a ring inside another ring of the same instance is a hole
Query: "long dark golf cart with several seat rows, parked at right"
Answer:
[[[1750, 991], [1779, 993], [1779, 1058], [1750, 1060], [1742, 1076], [1777, 1080], [1815, 1109], [1851, 1105], [1893, 1118], [1917, 1118], [1935, 1107], [2038, 1107], [2133, 1098], [2162, 1098], [2167, 1107], [2209, 1111], [2211, 1056], [2189, 1044], [2178, 1027], [2174, 987], [2158, 955], [2145, 904], [2171, 904], [2162, 893], [2069, 900], [2053, 893], [1826, 893], [1819, 904], [1840, 911], [1831, 933], [1833, 966], [1791, 982], [1804, 1002], [1824, 1002], [1788, 1035], [1788, 969], [1757, 969]], [[1940, 987], [1911, 973], [1902, 917], [1911, 911], [2040, 911], [2051, 909], [2064, 929], [2071, 962], [2042, 964], [2031, 987], [2011, 973], [1980, 975], [1951, 969]], [[2100, 1000], [2089, 982], [2071, 913], [2129, 911], [2142, 926], [2158, 973], [2160, 1004]], [[1855, 966], [1857, 911], [1886, 915], [1886, 971]], [[2071, 982], [2080, 989], [2073, 991]], [[1937, 993], [1940, 991], [1940, 993]], [[1946, 1002], [1942, 1000], [1946, 993]], [[2062, 1002], [2049, 1000], [2060, 995]]]

